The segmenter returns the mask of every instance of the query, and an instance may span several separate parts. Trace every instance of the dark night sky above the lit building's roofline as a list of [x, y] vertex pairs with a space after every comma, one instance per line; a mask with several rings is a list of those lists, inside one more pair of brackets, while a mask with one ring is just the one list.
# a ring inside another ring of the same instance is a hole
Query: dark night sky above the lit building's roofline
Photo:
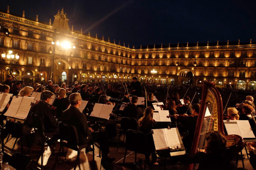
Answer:
[[49, 23], [64, 8], [69, 26], [110, 41], [130, 44], [177, 44], [256, 40], [256, 1], [45, 0], [1, 1], [0, 10]]

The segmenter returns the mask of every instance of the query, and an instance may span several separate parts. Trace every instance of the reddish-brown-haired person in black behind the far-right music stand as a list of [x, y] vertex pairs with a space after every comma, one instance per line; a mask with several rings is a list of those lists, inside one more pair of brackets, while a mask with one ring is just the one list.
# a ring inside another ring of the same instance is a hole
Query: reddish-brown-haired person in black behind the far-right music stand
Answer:
[[254, 135], [256, 136], [256, 124], [251, 116], [253, 112], [253, 107], [251, 105], [245, 104], [242, 107], [242, 114], [240, 114], [240, 120], [248, 120]]

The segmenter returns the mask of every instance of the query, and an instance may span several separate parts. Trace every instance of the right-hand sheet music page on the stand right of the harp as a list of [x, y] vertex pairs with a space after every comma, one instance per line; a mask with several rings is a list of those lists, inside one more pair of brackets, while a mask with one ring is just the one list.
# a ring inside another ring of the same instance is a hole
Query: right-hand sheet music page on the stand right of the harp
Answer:
[[240, 129], [241, 134], [242, 134], [241, 137], [255, 138], [248, 120], [237, 120], [236, 123]]

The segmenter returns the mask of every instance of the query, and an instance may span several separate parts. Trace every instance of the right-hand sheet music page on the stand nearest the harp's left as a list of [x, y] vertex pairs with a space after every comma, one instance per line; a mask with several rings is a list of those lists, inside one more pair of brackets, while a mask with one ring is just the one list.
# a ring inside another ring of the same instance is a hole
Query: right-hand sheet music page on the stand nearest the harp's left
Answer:
[[175, 148], [177, 148], [178, 146], [179, 148], [181, 148], [181, 143], [179, 142], [179, 137], [178, 137], [176, 128], [171, 128], [171, 129], [166, 128], [164, 129], [164, 131], [165, 131], [168, 146], [175, 147]]

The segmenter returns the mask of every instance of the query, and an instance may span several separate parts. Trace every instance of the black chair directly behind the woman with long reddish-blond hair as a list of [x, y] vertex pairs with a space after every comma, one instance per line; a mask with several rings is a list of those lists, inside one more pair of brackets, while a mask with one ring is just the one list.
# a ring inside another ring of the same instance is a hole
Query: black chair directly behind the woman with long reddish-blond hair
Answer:
[[128, 130], [126, 132], [125, 155], [123, 163], [125, 163], [127, 150], [135, 152], [135, 162], [137, 158], [137, 153], [141, 153], [145, 155], [146, 162], [149, 163], [150, 153], [148, 152], [146, 135], [143, 132], [135, 130]]

